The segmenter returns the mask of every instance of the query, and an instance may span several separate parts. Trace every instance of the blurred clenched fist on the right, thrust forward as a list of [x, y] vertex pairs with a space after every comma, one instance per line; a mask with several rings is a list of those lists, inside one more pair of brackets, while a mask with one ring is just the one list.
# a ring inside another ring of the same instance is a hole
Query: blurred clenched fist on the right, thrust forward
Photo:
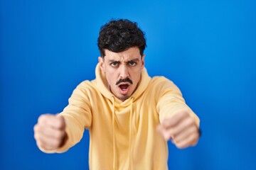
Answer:
[[196, 145], [200, 136], [195, 120], [186, 111], [166, 118], [157, 130], [165, 140], [171, 140], [180, 149]]

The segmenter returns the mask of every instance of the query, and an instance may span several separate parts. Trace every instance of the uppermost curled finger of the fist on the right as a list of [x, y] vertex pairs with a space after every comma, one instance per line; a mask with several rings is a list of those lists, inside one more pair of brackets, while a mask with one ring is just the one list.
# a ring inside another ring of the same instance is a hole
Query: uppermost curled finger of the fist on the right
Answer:
[[176, 126], [178, 123], [181, 122], [181, 120], [183, 120], [184, 118], [187, 118], [189, 115], [188, 113], [186, 113], [186, 111], [179, 111], [178, 113], [176, 113], [174, 116], [172, 116], [171, 118], [166, 118], [162, 125], [164, 126], [164, 128], [171, 128]]

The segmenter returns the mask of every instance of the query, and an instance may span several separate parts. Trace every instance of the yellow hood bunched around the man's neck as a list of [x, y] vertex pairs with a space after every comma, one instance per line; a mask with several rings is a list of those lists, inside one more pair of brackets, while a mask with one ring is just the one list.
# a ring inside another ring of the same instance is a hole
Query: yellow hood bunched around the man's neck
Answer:
[[127, 106], [130, 103], [131, 98], [133, 98], [133, 101], [136, 101], [139, 96], [142, 95], [142, 93], [146, 90], [146, 87], [148, 86], [151, 77], [149, 77], [149, 74], [146, 72], [146, 68], [142, 69], [142, 77], [139, 81], [139, 86], [134, 91], [134, 94], [130, 96], [126, 101], [121, 101], [118, 98], [112, 94], [108, 87], [106, 75], [102, 70], [100, 69], [100, 64], [98, 63], [95, 69], [96, 79], [92, 81], [95, 86], [97, 86], [97, 89], [100, 91], [100, 93], [105, 96], [106, 98], [112, 100], [114, 97], [114, 101], [118, 103], [120, 106]]

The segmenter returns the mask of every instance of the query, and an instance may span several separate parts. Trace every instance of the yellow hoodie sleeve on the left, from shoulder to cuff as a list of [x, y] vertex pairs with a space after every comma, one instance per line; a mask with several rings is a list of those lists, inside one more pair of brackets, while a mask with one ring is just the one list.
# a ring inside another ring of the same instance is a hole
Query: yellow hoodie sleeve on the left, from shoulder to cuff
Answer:
[[92, 112], [87, 90], [88, 86], [85, 81], [79, 84], [68, 99], [68, 106], [59, 114], [64, 117], [66, 125], [65, 132], [67, 133], [67, 138], [64, 145], [54, 151], [43, 152], [66, 152], [70, 147], [80, 142], [85, 128], [90, 128], [92, 124]]

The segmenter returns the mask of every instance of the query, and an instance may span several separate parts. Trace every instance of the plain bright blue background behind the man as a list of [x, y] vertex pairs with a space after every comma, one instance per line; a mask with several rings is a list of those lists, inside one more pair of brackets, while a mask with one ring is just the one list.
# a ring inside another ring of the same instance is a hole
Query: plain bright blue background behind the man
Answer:
[[196, 147], [169, 144], [169, 169], [256, 169], [255, 1], [1, 0], [0, 17], [0, 169], [88, 169], [87, 131], [68, 152], [44, 154], [33, 125], [95, 78], [110, 18], [139, 23], [149, 74], [174, 81], [201, 118]]

